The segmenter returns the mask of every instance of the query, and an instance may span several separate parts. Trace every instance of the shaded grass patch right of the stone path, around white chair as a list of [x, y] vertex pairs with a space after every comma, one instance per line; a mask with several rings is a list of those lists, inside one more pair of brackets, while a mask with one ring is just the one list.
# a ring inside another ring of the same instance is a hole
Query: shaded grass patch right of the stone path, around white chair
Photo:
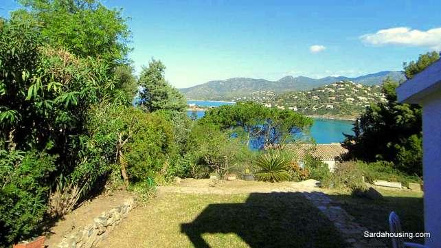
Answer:
[[[372, 201], [350, 196], [349, 193], [330, 194], [339, 206], [343, 207], [355, 222], [367, 227], [371, 232], [389, 232], [387, 219], [391, 211], [400, 216], [403, 232], [424, 232], [424, 210], [422, 192], [378, 190], [384, 199]], [[424, 243], [423, 238], [409, 240], [414, 243]], [[389, 244], [388, 238], [383, 242]]]

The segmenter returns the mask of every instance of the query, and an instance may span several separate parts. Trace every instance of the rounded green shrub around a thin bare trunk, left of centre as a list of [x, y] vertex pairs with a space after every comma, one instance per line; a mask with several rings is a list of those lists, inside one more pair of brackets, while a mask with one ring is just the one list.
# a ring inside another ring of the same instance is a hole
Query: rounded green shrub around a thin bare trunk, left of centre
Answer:
[[[167, 179], [177, 150], [172, 123], [165, 115], [133, 106], [95, 106], [88, 125], [93, 148], [108, 164], [120, 166], [113, 169], [125, 169], [131, 183], [159, 175]], [[117, 150], [120, 153], [115, 155]]]

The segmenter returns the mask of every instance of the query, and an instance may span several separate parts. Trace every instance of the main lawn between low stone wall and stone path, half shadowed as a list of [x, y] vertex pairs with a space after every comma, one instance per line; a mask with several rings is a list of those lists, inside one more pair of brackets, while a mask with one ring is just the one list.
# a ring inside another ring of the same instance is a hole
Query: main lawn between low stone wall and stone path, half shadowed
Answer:
[[99, 247], [345, 247], [301, 193], [161, 194]]

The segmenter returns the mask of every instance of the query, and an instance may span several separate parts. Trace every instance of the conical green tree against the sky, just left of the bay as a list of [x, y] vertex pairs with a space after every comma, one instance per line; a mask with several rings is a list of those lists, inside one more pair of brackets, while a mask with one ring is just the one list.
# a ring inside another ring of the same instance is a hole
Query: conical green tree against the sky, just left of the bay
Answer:
[[142, 69], [138, 84], [142, 89], [139, 92], [140, 104], [146, 111], [158, 110], [183, 112], [187, 106], [185, 97], [176, 88], [172, 87], [164, 78], [166, 67], [160, 60], [148, 63]]

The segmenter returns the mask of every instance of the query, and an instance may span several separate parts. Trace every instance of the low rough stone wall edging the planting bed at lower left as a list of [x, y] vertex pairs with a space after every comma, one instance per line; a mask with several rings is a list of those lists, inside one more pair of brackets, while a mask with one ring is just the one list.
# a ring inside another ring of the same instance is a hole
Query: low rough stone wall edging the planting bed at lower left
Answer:
[[91, 224], [68, 234], [56, 247], [91, 248], [97, 246], [101, 240], [107, 238], [109, 233], [128, 216], [128, 212], [130, 212], [133, 207], [135, 207], [135, 201], [133, 199], [127, 199], [122, 205], [102, 212], [100, 216], [93, 218]]

